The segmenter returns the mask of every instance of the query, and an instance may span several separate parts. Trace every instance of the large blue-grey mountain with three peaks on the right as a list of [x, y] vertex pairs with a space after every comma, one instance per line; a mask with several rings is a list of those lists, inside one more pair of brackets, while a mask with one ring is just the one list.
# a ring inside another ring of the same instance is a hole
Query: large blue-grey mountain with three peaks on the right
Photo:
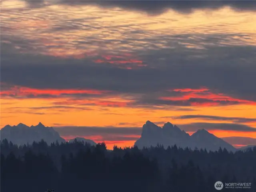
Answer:
[[177, 147], [204, 149], [216, 151], [220, 147], [226, 148], [228, 151], [235, 151], [236, 149], [225, 142], [224, 140], [210, 134], [208, 131], [202, 129], [198, 130], [191, 136], [184, 130], [180, 130], [178, 126], [172, 125], [170, 122], [164, 124], [163, 128], [147, 121], [142, 127], [141, 137], [134, 143], [138, 148], [163, 145], [165, 148], [176, 144]]

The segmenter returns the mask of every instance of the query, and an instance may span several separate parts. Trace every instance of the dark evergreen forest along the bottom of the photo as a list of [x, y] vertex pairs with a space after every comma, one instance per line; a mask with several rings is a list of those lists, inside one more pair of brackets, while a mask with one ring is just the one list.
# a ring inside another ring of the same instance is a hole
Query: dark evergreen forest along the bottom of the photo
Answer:
[[24, 146], [1, 141], [1, 192], [216, 192], [214, 183], [250, 182], [256, 192], [256, 147], [228, 152], [197, 148], [107, 150], [84, 142]]

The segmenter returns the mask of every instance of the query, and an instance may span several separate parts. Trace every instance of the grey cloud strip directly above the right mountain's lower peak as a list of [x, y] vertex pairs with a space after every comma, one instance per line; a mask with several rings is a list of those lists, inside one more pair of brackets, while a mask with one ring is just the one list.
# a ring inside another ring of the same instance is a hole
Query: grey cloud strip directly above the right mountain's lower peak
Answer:
[[256, 132], [256, 128], [243, 125], [243, 124], [232, 124], [232, 123], [190, 123], [180, 124], [179, 128], [186, 132], [196, 132], [198, 129], [206, 130], [227, 130], [227, 131], [238, 131], [238, 132]]

